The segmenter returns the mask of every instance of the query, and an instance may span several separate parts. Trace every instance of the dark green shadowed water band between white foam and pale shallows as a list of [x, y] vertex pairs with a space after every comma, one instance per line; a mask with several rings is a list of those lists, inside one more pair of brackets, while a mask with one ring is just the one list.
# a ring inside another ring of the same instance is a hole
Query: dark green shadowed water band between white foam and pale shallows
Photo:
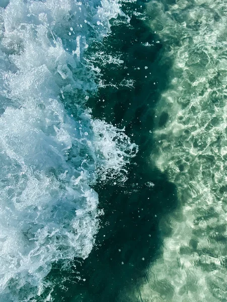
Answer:
[[[128, 3], [123, 10], [143, 14], [144, 2]], [[123, 186], [108, 183], [94, 188], [104, 210], [96, 245], [87, 259], [77, 260], [72, 277], [62, 276], [65, 281], [54, 290], [55, 301], [123, 301], [125, 289], [146, 281], [146, 268], [160, 253], [158, 222], [177, 206], [176, 187], [150, 162], [154, 107], [168, 85], [171, 61], [163, 59], [162, 44], [145, 22], [130, 17], [130, 26], [113, 24], [111, 34], [97, 45], [99, 52], [119, 53], [124, 63], [100, 63], [106, 85], [88, 105], [94, 117], [125, 127], [139, 152]], [[122, 85], [125, 79], [132, 80], [133, 87]], [[159, 123], [163, 126], [166, 119], [161, 117]], [[56, 271], [53, 268], [50, 276]]]

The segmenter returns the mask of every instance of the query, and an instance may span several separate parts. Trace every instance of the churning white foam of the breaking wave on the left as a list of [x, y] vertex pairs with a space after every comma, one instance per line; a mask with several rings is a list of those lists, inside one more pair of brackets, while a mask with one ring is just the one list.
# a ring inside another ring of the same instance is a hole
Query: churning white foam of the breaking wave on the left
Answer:
[[126, 178], [136, 145], [85, 107], [98, 73], [86, 52], [119, 14], [118, 0], [1, 1], [0, 301], [36, 301], [53, 262], [86, 258], [91, 186]]

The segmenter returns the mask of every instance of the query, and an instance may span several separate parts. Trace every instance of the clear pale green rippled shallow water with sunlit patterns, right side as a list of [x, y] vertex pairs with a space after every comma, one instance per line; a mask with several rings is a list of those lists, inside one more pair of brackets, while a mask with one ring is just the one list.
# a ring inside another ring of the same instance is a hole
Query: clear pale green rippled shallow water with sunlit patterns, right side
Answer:
[[152, 159], [178, 189], [160, 221], [163, 253], [141, 301], [227, 301], [227, 3], [152, 1], [150, 26], [172, 65], [156, 106]]

